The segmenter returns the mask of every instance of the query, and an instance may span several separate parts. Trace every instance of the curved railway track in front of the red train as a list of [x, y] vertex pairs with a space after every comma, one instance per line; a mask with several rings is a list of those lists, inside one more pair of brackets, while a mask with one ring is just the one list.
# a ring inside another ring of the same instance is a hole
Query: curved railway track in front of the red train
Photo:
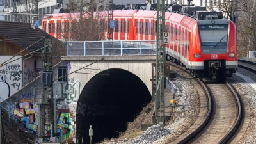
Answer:
[[198, 118], [203, 117], [204, 120], [193, 131], [189, 131], [189, 134], [174, 142], [227, 143], [241, 124], [243, 109], [239, 97], [227, 82], [198, 83], [204, 89], [205, 99], [207, 97], [207, 113], [200, 113]]

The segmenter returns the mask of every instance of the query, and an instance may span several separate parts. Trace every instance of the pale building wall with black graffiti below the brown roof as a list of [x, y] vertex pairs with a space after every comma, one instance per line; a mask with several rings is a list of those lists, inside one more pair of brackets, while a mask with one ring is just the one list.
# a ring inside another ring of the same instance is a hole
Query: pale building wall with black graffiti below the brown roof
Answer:
[[[0, 56], [0, 63], [12, 57], [13, 56]], [[35, 68], [35, 62], [38, 61], [38, 63], [40, 63], [42, 61], [42, 56], [39, 57], [40, 58], [38, 58], [38, 56], [29, 56], [22, 59], [20, 56], [15, 56], [7, 61], [7, 63], [17, 58], [20, 59], [0, 67], [0, 93], [3, 93], [3, 95], [1, 95], [2, 99], [7, 99], [10, 95], [19, 91], [22, 86], [25, 86], [39, 76], [39, 71]], [[39, 64], [38, 67], [40, 67]]]

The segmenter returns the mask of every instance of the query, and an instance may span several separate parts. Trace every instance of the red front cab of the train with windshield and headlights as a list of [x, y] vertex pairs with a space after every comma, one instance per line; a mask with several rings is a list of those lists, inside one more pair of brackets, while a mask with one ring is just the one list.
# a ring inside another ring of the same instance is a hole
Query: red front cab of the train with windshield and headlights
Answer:
[[[237, 68], [236, 28], [230, 20], [197, 20], [190, 59], [195, 76], [230, 77]], [[197, 32], [198, 31], [198, 32]]]

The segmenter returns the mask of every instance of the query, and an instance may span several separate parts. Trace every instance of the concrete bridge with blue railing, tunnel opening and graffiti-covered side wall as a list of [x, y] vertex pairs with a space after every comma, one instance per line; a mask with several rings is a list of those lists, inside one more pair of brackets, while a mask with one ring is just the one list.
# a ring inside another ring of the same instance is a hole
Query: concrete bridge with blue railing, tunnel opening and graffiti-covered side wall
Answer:
[[[66, 42], [66, 45], [67, 56], [52, 71], [53, 97], [60, 98], [62, 93], [65, 98], [56, 104], [56, 125], [65, 130], [64, 140], [73, 139], [76, 132], [77, 142], [82, 139], [88, 142], [90, 125], [93, 143], [117, 136], [152, 100], [154, 41]], [[58, 81], [60, 67], [67, 67], [68, 82]], [[40, 76], [6, 102], [20, 109], [24, 104], [30, 106], [28, 116], [33, 115], [35, 124], [40, 125], [38, 111], [42, 112], [40, 104], [44, 99]], [[15, 109], [12, 111], [15, 114]], [[51, 115], [47, 111], [45, 122], [50, 124]], [[33, 124], [24, 127], [36, 131]]]

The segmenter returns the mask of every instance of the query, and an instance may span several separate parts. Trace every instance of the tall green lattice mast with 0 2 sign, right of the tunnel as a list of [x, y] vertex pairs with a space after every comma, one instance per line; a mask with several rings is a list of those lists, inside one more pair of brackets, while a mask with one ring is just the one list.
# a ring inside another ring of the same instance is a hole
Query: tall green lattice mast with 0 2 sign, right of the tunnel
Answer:
[[163, 32], [165, 31], [165, 0], [157, 0], [156, 25], [156, 124], [165, 125], [164, 115], [164, 65], [165, 45]]

